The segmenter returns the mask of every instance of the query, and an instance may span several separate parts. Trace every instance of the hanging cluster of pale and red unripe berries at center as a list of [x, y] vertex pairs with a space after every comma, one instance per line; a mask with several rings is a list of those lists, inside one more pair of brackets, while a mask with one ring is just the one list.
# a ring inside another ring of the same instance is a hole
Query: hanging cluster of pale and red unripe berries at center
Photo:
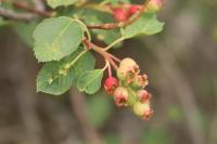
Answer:
[[148, 83], [148, 76], [140, 75], [139, 65], [131, 58], [124, 58], [119, 63], [117, 78], [108, 77], [104, 88], [108, 94], [114, 95], [117, 106], [130, 106], [136, 115], [149, 120], [153, 110], [150, 104], [151, 94], [143, 90]]

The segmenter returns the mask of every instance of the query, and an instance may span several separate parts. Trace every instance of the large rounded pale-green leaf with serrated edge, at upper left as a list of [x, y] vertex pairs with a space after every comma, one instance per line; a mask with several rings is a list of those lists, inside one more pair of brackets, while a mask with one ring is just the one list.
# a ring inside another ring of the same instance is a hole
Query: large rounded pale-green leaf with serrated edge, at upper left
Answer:
[[59, 61], [77, 50], [84, 31], [71, 17], [48, 18], [34, 31], [34, 51], [39, 62]]

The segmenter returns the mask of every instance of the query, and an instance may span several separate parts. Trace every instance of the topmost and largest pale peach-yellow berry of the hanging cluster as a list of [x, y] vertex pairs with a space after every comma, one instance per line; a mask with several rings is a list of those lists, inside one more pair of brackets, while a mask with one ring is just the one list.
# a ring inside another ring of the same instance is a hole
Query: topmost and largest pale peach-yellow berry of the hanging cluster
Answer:
[[131, 58], [124, 58], [117, 69], [117, 77], [128, 83], [139, 74], [139, 65]]

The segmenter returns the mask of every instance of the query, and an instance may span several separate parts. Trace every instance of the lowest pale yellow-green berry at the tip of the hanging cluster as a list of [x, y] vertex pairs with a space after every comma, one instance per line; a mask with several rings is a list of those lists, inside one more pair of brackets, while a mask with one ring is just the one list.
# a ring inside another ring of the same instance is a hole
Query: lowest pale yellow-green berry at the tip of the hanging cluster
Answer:
[[133, 112], [137, 116], [141, 117], [143, 120], [149, 120], [153, 114], [152, 108], [149, 103], [136, 103], [133, 106]]

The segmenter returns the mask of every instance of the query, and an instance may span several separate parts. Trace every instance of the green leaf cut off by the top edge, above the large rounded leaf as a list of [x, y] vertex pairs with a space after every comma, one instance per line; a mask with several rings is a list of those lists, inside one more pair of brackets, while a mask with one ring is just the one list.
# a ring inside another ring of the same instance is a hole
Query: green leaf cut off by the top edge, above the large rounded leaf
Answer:
[[67, 6], [77, 2], [77, 0], [47, 0], [47, 1], [48, 1], [48, 4], [53, 9], [58, 6], [62, 6], [62, 5]]

